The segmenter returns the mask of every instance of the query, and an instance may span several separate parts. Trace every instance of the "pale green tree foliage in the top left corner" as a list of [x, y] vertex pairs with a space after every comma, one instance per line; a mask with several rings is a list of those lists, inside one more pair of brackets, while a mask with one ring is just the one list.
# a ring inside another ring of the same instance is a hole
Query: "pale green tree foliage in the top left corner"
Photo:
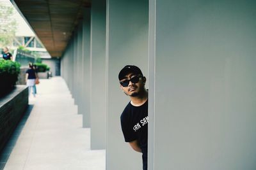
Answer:
[[0, 2], [0, 46], [12, 45], [17, 22], [13, 17], [15, 10], [13, 6]]

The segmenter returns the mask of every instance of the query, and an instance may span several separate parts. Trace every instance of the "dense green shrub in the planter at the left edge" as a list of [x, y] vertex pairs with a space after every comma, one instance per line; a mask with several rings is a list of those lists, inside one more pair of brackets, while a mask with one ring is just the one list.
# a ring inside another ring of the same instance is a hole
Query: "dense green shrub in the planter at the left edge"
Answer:
[[18, 80], [20, 73], [19, 62], [12, 62], [11, 60], [0, 60], [0, 95], [12, 89]]

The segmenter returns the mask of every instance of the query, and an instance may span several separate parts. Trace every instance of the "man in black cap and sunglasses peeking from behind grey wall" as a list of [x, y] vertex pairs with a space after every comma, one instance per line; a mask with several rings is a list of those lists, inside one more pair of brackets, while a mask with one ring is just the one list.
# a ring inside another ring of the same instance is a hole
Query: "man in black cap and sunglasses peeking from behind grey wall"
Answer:
[[119, 73], [120, 88], [130, 97], [120, 119], [125, 142], [142, 153], [143, 170], [147, 170], [148, 90], [146, 78], [137, 66], [125, 66]]

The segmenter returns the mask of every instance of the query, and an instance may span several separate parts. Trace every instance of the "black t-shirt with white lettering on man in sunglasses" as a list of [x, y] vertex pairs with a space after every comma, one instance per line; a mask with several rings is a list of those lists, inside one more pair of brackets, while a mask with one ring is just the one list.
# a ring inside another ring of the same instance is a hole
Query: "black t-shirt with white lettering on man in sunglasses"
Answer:
[[147, 156], [148, 101], [141, 106], [133, 106], [130, 102], [120, 118], [125, 142], [137, 140], [143, 155]]

